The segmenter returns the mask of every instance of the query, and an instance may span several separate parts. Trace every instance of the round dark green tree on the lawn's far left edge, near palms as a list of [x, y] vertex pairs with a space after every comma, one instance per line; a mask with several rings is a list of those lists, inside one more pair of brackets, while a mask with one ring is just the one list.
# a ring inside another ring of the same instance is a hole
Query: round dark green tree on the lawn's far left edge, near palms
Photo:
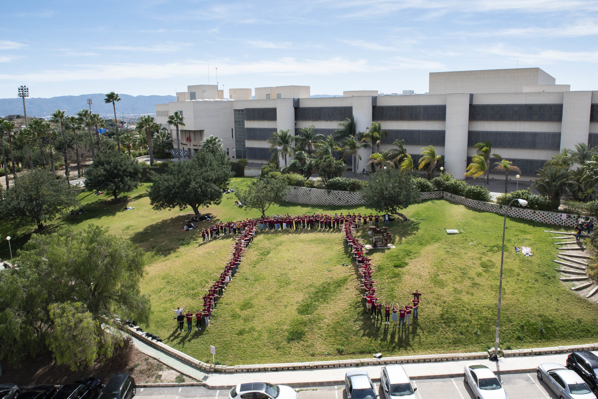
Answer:
[[87, 169], [88, 190], [112, 191], [114, 200], [139, 186], [141, 165], [120, 152], [102, 151]]

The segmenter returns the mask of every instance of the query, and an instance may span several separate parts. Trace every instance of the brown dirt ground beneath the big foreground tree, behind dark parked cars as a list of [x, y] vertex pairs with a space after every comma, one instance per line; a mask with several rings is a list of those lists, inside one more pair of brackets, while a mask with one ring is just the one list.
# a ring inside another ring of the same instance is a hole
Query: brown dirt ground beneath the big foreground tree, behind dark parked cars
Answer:
[[195, 382], [194, 379], [182, 376], [178, 371], [160, 363], [154, 358], [139, 352], [132, 345], [120, 348], [112, 358], [98, 361], [91, 367], [80, 371], [71, 371], [65, 365], [57, 365], [50, 355], [42, 355], [30, 360], [22, 367], [15, 368], [2, 363], [0, 383], [16, 383], [21, 386], [42, 383], [63, 385], [83, 377], [97, 377], [106, 383], [109, 377], [118, 373], [129, 373], [137, 383], [155, 382]]

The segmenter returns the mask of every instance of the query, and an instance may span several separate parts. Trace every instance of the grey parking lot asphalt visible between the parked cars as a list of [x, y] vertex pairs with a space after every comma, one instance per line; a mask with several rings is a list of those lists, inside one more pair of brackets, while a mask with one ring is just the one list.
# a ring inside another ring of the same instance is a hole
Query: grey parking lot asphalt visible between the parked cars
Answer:
[[[536, 374], [505, 374], [502, 383], [510, 399], [557, 399], [548, 391]], [[462, 378], [417, 380], [417, 399], [475, 399], [469, 386]], [[378, 384], [376, 384], [378, 389]], [[319, 386], [318, 388], [297, 388], [298, 399], [346, 399], [344, 386]], [[380, 392], [382, 393], [382, 392]], [[181, 388], [144, 388], [137, 390], [137, 397], [145, 399], [227, 399], [228, 389], [212, 391], [199, 386]]]

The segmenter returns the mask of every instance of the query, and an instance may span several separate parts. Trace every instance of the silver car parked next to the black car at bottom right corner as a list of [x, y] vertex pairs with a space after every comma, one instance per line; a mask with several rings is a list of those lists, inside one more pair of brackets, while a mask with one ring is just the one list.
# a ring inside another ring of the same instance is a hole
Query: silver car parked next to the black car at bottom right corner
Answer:
[[536, 371], [538, 379], [544, 381], [559, 399], [596, 398], [582, 377], [561, 364], [542, 363]]

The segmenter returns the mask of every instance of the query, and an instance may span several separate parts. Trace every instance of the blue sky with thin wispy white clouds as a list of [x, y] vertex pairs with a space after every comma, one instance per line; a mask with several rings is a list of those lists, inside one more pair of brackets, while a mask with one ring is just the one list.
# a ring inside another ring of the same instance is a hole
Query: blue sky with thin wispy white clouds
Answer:
[[0, 98], [425, 93], [429, 72], [529, 67], [598, 90], [598, 0], [22, 0], [2, 14]]

